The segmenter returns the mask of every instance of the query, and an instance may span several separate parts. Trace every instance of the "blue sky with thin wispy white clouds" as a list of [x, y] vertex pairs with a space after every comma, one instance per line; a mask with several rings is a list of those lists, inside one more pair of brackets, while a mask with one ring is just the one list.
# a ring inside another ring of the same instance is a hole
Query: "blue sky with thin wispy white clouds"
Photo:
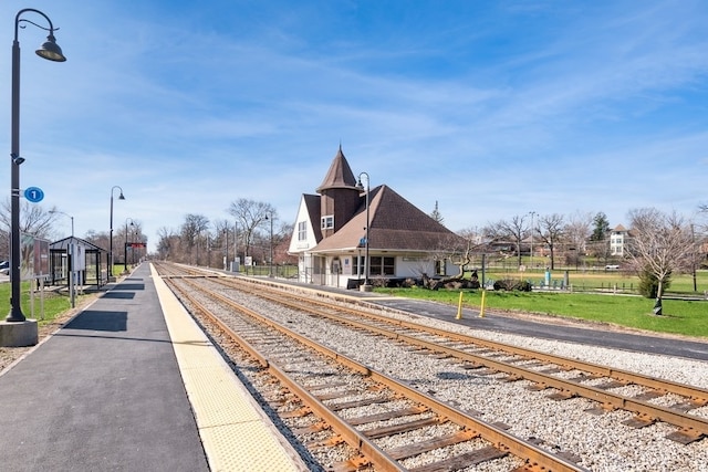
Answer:
[[28, 7], [67, 61], [19, 30], [21, 187], [77, 237], [108, 231], [112, 196], [114, 231], [139, 223], [149, 250], [188, 213], [232, 220], [240, 198], [295, 223], [340, 145], [452, 231], [708, 202], [702, 0], [6, 0], [8, 154]]

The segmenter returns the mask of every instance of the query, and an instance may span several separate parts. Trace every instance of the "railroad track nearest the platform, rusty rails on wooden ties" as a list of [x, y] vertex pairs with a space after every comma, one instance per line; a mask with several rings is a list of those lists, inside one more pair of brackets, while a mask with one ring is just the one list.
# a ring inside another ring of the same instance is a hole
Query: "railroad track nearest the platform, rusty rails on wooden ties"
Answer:
[[[166, 282], [192, 313], [218, 325], [278, 379], [282, 387], [270, 390], [278, 392], [278, 400], [271, 401], [281, 418], [317, 418], [292, 431], [317, 438], [309, 442], [310, 449], [348, 444], [351, 457], [332, 464], [332, 470], [426, 472], [491, 461], [518, 471], [584, 470], [573, 458], [516, 438], [209, 291], [195, 274], [181, 276], [163, 264], [158, 270], [169, 271]], [[215, 303], [222, 307], [218, 314]], [[368, 412], [372, 408], [376, 412]]]

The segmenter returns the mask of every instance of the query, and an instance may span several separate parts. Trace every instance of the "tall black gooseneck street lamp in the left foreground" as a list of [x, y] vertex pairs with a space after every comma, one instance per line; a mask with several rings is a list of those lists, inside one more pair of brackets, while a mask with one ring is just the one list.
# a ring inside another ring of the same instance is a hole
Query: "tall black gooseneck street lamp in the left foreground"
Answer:
[[[30, 20], [20, 19], [24, 12], [38, 13], [46, 20], [49, 28], [41, 27]], [[20, 165], [24, 162], [24, 158], [20, 157], [20, 43], [18, 41], [18, 29], [20, 23], [30, 23], [35, 27], [49, 31], [46, 41], [37, 50], [40, 57], [54, 62], [64, 62], [66, 57], [62, 53], [61, 48], [54, 39], [54, 25], [52, 21], [39, 10], [25, 8], [20, 10], [14, 18], [14, 41], [12, 42], [12, 116], [11, 116], [11, 151], [10, 151], [10, 314], [6, 318], [8, 322], [24, 322], [27, 318], [22, 314], [20, 303]], [[22, 27], [24, 28], [24, 25]]]

